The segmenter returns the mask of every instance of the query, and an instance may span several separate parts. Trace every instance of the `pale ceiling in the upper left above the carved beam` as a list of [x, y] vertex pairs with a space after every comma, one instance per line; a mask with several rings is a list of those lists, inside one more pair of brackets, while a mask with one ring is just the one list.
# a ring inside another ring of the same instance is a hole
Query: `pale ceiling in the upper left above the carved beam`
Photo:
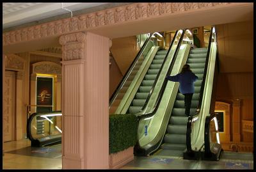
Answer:
[[113, 3], [3, 3], [3, 29], [108, 4]]

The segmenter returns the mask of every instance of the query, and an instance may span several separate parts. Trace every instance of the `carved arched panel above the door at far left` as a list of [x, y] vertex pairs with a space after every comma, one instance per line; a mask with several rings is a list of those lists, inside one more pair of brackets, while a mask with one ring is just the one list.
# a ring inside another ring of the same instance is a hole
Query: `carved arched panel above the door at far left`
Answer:
[[15, 54], [8, 54], [4, 61], [6, 70], [24, 71], [25, 69], [25, 60]]

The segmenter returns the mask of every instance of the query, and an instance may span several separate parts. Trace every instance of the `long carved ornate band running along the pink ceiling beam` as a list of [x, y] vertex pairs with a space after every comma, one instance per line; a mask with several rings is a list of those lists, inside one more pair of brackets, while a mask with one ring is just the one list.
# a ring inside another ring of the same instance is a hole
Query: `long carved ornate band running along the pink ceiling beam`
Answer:
[[211, 8], [229, 6], [230, 4], [234, 3], [133, 3], [10, 31], [3, 34], [3, 45], [36, 40], [47, 36], [86, 31], [93, 27], [151, 19], [160, 15], [172, 15], [173, 13], [202, 9], [211, 10]]

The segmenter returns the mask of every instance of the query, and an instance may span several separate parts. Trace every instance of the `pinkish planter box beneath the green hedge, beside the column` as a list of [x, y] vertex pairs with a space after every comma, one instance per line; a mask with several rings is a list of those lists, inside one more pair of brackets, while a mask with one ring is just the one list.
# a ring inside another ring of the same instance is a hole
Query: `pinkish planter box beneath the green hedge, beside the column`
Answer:
[[109, 168], [118, 169], [134, 159], [133, 147], [127, 148], [118, 153], [111, 153], [109, 155]]

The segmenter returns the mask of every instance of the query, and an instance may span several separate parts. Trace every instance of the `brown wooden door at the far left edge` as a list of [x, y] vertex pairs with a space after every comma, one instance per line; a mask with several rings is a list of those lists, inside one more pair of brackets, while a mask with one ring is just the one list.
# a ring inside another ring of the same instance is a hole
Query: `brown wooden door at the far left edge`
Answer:
[[15, 139], [15, 72], [5, 71], [3, 140]]

